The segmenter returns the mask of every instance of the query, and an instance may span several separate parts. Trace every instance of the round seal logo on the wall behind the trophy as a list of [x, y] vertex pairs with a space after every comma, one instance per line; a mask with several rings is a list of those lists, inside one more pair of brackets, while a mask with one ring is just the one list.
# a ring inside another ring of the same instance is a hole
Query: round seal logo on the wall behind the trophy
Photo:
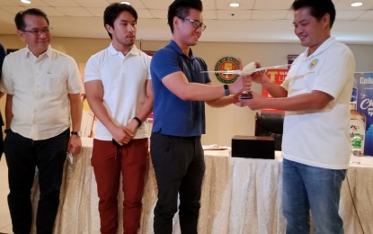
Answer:
[[[215, 66], [216, 71], [239, 70], [240, 68], [240, 62], [238, 59], [233, 57], [221, 58]], [[217, 76], [218, 80], [224, 84], [232, 84], [238, 77], [238, 75], [235, 74], [224, 73], [215, 73], [215, 76]]]

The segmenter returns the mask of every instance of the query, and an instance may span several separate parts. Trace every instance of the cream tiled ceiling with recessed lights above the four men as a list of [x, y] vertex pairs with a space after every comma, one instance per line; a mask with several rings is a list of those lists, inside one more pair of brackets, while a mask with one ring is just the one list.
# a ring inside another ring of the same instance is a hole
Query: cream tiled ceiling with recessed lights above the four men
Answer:
[[[14, 15], [37, 7], [49, 16], [53, 35], [58, 37], [108, 38], [102, 14], [112, 0], [20, 0], [0, 1], [0, 34], [14, 34]], [[238, 8], [228, 6], [239, 2]], [[347, 43], [373, 44], [373, 0], [333, 0], [337, 9], [332, 34]], [[138, 11], [138, 40], [169, 40], [167, 8], [173, 0], [130, 0]], [[294, 42], [293, 0], [203, 0], [203, 19], [207, 25], [201, 41]]]

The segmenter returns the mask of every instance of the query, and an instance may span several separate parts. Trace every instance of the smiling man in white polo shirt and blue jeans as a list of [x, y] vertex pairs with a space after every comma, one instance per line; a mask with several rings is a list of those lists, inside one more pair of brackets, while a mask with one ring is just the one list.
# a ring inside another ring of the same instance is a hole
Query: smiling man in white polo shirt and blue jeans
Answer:
[[282, 85], [253, 75], [275, 97], [253, 93], [253, 110], [285, 110], [282, 139], [283, 214], [286, 233], [343, 233], [338, 213], [342, 181], [351, 156], [350, 99], [355, 58], [331, 37], [332, 0], [296, 0], [294, 31], [306, 51], [293, 62]]

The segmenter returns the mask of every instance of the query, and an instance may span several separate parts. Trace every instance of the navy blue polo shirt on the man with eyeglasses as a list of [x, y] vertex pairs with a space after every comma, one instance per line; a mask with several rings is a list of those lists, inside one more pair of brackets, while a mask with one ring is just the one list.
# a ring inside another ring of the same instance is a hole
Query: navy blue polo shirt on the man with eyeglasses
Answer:
[[173, 40], [155, 52], [150, 64], [155, 95], [153, 132], [178, 137], [200, 136], [205, 133], [205, 102], [183, 101], [162, 83], [164, 76], [178, 71], [182, 71], [189, 82], [210, 83], [209, 75], [200, 73], [203, 70], [207, 70], [205, 61], [194, 57], [192, 51], [188, 58]]

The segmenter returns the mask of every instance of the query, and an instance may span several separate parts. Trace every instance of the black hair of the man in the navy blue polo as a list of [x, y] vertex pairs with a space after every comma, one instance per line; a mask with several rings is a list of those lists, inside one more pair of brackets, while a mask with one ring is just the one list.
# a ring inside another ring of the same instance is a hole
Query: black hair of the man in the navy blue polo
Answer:
[[190, 9], [202, 12], [202, 2], [200, 0], [175, 0], [170, 4], [168, 7], [167, 20], [171, 32], [173, 32], [173, 17], [176, 16], [180, 19], [185, 19], [189, 14]]

